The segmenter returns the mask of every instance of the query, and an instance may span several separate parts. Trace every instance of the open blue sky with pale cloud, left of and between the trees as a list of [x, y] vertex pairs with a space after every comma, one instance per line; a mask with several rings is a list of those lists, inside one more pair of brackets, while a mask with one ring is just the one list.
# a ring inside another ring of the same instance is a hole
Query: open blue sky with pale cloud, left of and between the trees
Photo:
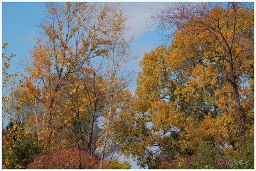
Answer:
[[[127, 70], [138, 73], [140, 60], [145, 52], [161, 45], [161, 36], [156, 31], [156, 26], [150, 26], [150, 16], [156, 10], [163, 8], [164, 3], [121, 3], [127, 15], [127, 25], [131, 30], [126, 36], [134, 36], [131, 43], [133, 54], [138, 54], [138, 59], [127, 65]], [[8, 42], [6, 53], [14, 53], [17, 58], [12, 61], [12, 71], [22, 72], [22, 61], [31, 61], [29, 50], [35, 45], [35, 36], [38, 35], [36, 24], [45, 16], [45, 3], [3, 3], [2, 6], [2, 42]], [[134, 80], [136, 78], [134, 77]], [[136, 89], [133, 84], [130, 87], [132, 93]], [[131, 161], [132, 168], [138, 168]]]

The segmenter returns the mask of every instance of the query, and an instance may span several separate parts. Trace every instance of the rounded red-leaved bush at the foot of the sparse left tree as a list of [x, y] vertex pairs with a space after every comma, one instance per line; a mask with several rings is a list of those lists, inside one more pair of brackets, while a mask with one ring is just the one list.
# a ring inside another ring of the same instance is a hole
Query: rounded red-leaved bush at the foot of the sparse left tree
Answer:
[[36, 156], [28, 168], [99, 168], [99, 163], [98, 158], [86, 151], [60, 149]]

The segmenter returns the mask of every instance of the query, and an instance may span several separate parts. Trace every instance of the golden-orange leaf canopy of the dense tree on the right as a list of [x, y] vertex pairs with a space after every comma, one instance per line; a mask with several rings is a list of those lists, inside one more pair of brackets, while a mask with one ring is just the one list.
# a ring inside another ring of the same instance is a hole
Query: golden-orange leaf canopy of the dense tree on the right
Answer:
[[[177, 30], [170, 47], [157, 47], [141, 61], [136, 100], [129, 112], [131, 121], [143, 115], [151, 123], [155, 138], [141, 136], [144, 142], [168, 137], [182, 152], [194, 151], [202, 142], [218, 147], [235, 141], [237, 114], [243, 113], [237, 112], [239, 101], [253, 118], [252, 14], [241, 4], [228, 5], [188, 3], [168, 6], [159, 14], [161, 26], [174, 25]], [[246, 126], [252, 133], [252, 122]]]

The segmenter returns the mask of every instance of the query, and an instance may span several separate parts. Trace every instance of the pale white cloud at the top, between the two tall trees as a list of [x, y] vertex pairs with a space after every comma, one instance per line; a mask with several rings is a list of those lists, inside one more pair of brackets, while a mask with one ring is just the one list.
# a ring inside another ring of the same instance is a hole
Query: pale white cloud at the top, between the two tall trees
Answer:
[[154, 15], [156, 10], [163, 8], [165, 3], [121, 3], [124, 7], [124, 15], [128, 17], [127, 26], [131, 26], [131, 30], [126, 36], [134, 36], [140, 38], [146, 31], [154, 31], [156, 26], [150, 27], [152, 20], [150, 17]]

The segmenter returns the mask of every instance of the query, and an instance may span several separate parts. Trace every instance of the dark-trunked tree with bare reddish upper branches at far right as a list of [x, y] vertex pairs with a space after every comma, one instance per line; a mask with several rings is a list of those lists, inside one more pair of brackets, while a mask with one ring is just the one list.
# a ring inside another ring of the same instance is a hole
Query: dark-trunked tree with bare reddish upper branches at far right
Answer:
[[[175, 48], [179, 49], [180, 55], [190, 60], [197, 59], [198, 63], [209, 61], [206, 67], [214, 65], [214, 70], [219, 73], [218, 79], [223, 79], [232, 87], [241, 136], [246, 131], [241, 84], [245, 80], [253, 80], [253, 9], [245, 5], [225, 3], [221, 7], [221, 4], [212, 3], [178, 4], [173, 8], [167, 6], [166, 11], [157, 16], [161, 26], [177, 26], [175, 38], [180, 37], [182, 40], [175, 41], [186, 45], [182, 51], [179, 47]], [[194, 39], [195, 36], [197, 39]], [[191, 48], [195, 48], [195, 54], [189, 52]]]

